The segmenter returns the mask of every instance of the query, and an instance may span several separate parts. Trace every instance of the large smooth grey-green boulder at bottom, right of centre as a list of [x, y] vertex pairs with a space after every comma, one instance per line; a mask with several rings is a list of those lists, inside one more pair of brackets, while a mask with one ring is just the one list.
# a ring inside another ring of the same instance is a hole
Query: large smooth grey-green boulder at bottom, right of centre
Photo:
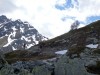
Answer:
[[63, 56], [55, 65], [55, 75], [93, 75], [86, 71], [83, 60]]

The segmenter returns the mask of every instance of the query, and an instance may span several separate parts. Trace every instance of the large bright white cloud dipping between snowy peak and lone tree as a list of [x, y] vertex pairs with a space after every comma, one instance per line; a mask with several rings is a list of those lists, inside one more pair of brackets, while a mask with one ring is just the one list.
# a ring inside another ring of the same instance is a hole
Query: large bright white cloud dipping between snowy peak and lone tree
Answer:
[[[28, 20], [43, 35], [49, 38], [55, 37], [67, 32], [70, 28], [70, 23], [73, 22], [71, 19], [61, 20], [64, 15], [55, 8], [57, 1], [17, 0], [16, 6], [19, 8], [12, 14], [7, 13], [7, 16], [12, 17], [13, 15], [15, 19]], [[63, 2], [60, 1], [59, 4], [61, 3]]]

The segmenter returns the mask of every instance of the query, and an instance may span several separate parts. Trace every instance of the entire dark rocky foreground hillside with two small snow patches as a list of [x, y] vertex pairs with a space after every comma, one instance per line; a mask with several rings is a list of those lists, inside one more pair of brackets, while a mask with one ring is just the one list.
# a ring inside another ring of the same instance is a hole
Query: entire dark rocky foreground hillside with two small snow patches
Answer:
[[0, 53], [0, 74], [100, 75], [100, 20], [5, 58]]

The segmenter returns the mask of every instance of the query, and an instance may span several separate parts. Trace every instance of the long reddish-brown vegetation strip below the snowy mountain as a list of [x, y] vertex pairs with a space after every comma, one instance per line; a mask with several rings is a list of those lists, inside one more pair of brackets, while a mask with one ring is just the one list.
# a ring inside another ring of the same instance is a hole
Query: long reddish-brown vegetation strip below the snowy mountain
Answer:
[[16, 61], [43, 60], [55, 57], [55, 54], [42, 54], [40, 52], [32, 52], [28, 50], [16, 50], [5, 54], [5, 59], [9, 64]]

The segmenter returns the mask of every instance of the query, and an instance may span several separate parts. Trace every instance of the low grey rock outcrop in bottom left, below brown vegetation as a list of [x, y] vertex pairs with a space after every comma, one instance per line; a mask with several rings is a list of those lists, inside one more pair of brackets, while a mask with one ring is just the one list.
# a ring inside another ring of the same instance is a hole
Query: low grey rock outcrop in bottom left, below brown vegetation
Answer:
[[0, 75], [51, 75], [47, 64], [42, 61], [19, 61], [12, 65], [4, 65]]

